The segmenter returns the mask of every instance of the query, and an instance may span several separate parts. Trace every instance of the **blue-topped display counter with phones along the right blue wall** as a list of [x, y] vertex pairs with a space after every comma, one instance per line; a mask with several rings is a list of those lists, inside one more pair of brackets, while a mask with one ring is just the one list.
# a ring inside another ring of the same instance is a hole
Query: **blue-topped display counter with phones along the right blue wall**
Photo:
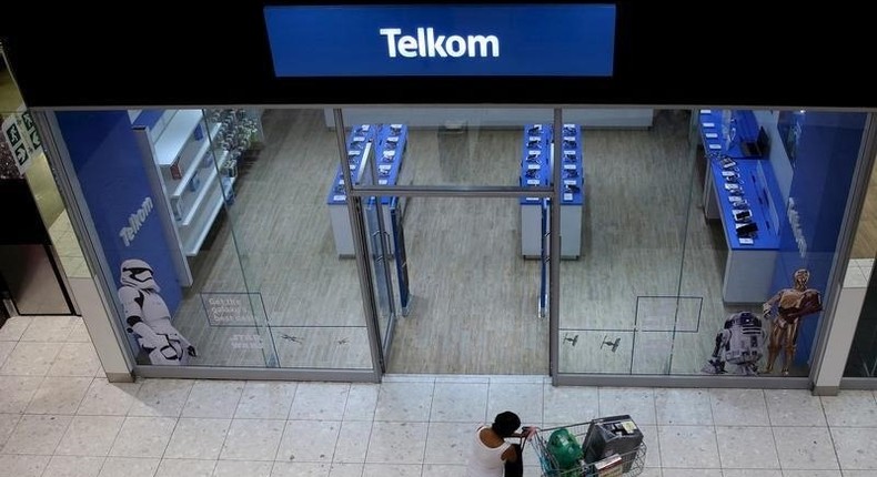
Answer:
[[766, 151], [752, 148], [758, 124], [750, 111], [700, 110], [697, 121], [707, 161], [704, 216], [722, 221], [728, 247], [723, 300], [763, 303], [779, 251], [782, 197]]

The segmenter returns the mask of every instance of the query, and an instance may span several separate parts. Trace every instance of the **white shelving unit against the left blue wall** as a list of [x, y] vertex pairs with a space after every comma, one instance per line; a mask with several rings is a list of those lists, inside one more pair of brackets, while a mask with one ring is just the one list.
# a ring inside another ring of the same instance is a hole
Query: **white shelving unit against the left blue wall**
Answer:
[[221, 124], [205, 121], [202, 110], [141, 112], [132, 121], [165, 235], [177, 243], [174, 265], [180, 284], [192, 284], [188, 257], [198, 255], [236, 177], [220, 168], [225, 151], [214, 154]]

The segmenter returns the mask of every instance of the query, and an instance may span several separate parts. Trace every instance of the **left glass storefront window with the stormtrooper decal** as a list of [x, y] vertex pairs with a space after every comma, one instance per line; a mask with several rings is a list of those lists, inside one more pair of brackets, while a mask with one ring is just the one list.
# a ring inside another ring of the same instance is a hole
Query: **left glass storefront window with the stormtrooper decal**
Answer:
[[372, 369], [320, 110], [57, 113], [140, 365]]

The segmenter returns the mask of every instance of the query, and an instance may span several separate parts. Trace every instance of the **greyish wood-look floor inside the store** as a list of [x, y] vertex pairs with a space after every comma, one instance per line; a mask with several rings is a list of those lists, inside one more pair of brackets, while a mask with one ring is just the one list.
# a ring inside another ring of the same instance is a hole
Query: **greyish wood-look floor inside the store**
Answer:
[[[582, 255], [561, 268], [562, 372], [698, 374], [728, 314], [760, 312], [722, 300], [727, 251], [719, 223], [703, 216], [688, 118], [657, 111], [647, 130], [584, 132]], [[234, 204], [192, 261], [175, 324], [198, 344], [193, 364], [369, 368], [355, 261], [337, 257], [325, 205], [334, 131], [322, 110], [268, 110], [262, 121], [265, 146], [242, 165]], [[521, 134], [414, 129], [400, 182], [515, 184]], [[520, 226], [516, 200], [407, 201], [413, 305], [395, 328], [391, 373], [547, 374], [538, 261], [521, 256]], [[205, 316], [204, 293], [243, 291], [270, 324], [249, 329], [262, 349], [235, 347], [242, 328]]]

